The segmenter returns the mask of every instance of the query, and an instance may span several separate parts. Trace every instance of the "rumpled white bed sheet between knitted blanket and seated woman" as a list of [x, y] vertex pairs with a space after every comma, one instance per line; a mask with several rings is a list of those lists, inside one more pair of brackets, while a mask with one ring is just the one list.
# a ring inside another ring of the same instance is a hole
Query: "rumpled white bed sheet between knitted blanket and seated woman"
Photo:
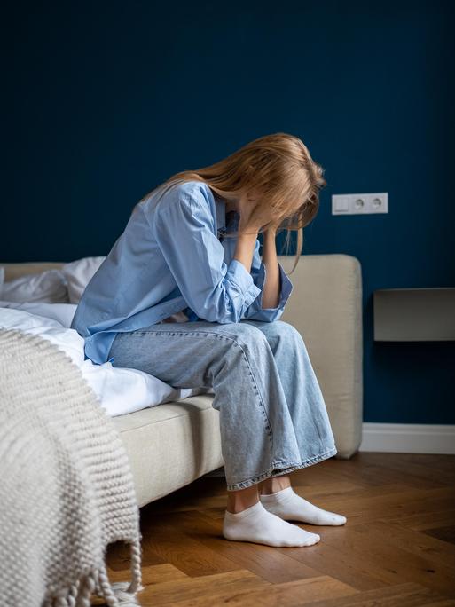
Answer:
[[[82, 371], [100, 405], [111, 416], [124, 415], [208, 389], [177, 389], [138, 369], [113, 367], [110, 362], [94, 365], [84, 360], [83, 338], [69, 328], [75, 313], [71, 303], [15, 303], [0, 301], [0, 327], [40, 335], [65, 351]], [[39, 312], [39, 313], [38, 313]]]

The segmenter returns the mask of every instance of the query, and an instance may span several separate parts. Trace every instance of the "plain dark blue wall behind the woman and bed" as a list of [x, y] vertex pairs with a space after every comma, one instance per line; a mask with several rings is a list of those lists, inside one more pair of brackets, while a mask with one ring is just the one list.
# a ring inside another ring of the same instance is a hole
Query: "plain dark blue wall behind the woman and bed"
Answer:
[[[453, 343], [372, 338], [374, 289], [455, 285], [450, 2], [16, 1], [2, 18], [2, 261], [106, 255], [172, 173], [294, 133], [328, 181], [303, 252], [363, 268], [365, 421], [455, 422]], [[331, 215], [333, 193], [363, 192], [388, 192], [388, 215]]]

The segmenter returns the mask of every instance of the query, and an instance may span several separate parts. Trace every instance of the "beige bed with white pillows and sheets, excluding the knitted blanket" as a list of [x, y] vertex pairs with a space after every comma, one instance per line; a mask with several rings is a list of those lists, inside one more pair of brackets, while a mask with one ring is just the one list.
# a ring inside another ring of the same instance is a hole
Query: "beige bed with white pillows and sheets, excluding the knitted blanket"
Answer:
[[[103, 258], [0, 262], [0, 327], [42, 335], [81, 368], [120, 432], [137, 501], [144, 506], [198, 477], [222, 474], [219, 414], [211, 406], [213, 392], [176, 390], [135, 369], [83, 360], [82, 337], [69, 324], [77, 298]], [[294, 257], [278, 256], [278, 261], [290, 272]], [[362, 438], [361, 266], [344, 254], [302, 256], [291, 280], [294, 293], [281, 319], [305, 341], [326, 400], [336, 457], [346, 459]], [[34, 299], [39, 288], [41, 301]]]

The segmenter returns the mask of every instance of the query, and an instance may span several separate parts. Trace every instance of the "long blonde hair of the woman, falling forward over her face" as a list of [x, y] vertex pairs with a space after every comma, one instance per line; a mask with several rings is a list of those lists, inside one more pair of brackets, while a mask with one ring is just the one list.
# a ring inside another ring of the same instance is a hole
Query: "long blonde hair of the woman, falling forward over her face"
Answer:
[[[287, 133], [274, 133], [254, 139], [215, 164], [195, 170], [183, 170], [156, 189], [164, 193], [182, 181], [202, 181], [226, 200], [236, 200], [241, 193], [259, 192], [260, 204], [273, 210], [280, 221], [277, 233], [286, 230], [286, 253], [291, 231], [297, 230], [298, 263], [303, 244], [303, 227], [309, 225], [319, 208], [319, 190], [326, 185], [324, 169], [313, 161], [302, 140]], [[153, 190], [154, 191], [154, 190]], [[151, 193], [145, 195], [145, 200]], [[259, 232], [267, 229], [263, 225]], [[235, 237], [237, 233], [225, 233]]]

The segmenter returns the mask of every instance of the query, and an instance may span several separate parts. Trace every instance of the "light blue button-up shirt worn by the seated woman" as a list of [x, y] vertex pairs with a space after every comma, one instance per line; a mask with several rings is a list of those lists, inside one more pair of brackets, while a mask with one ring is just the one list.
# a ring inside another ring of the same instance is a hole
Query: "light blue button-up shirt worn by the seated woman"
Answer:
[[[116, 333], [134, 331], [184, 311], [229, 323], [271, 322], [282, 315], [293, 284], [281, 264], [276, 308], [262, 307], [266, 269], [255, 242], [251, 272], [232, 256], [239, 214], [226, 225], [226, 205], [208, 185], [187, 181], [137, 203], [121, 236], [85, 288], [71, 328], [84, 338], [85, 359], [106, 362]], [[109, 359], [112, 362], [114, 359]]]

